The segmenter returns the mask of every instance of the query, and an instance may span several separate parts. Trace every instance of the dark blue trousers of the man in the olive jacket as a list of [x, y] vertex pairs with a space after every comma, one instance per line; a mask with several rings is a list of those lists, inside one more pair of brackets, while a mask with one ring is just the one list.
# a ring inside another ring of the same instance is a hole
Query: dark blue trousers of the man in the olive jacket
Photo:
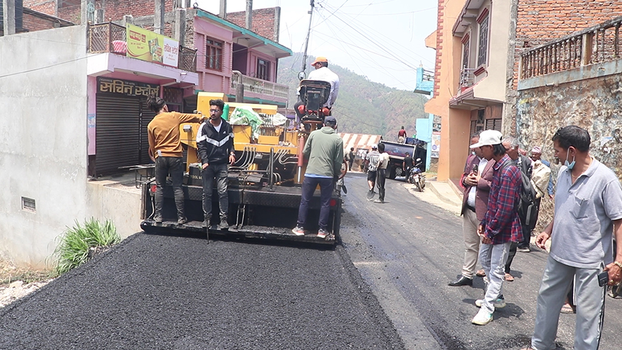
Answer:
[[298, 209], [298, 226], [304, 227], [309, 212], [309, 202], [313, 198], [315, 188], [319, 184], [319, 229], [326, 230], [328, 226], [328, 214], [331, 211], [331, 195], [333, 194], [333, 179], [324, 177], [308, 177], [303, 180], [301, 206]]

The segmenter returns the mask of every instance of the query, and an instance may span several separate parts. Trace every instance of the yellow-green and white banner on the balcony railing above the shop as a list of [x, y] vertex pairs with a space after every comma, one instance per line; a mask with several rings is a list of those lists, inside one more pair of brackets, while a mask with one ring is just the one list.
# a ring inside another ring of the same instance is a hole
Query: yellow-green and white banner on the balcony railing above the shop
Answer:
[[177, 68], [179, 41], [132, 24], [126, 25], [127, 57]]

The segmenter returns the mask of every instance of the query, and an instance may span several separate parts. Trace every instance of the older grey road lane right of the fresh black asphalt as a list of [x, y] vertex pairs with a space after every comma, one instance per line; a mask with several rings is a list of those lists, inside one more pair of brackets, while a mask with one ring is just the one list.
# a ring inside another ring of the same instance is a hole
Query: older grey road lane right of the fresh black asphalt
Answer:
[[[409, 194], [387, 180], [386, 203], [368, 202], [366, 179], [351, 174], [342, 228], [343, 245], [396, 325], [407, 349], [520, 349], [533, 333], [535, 302], [545, 251], [517, 253], [515, 282], [505, 284], [507, 307], [475, 326], [474, 302], [484, 284], [450, 287], [463, 261], [462, 218]], [[600, 349], [619, 349], [622, 301], [607, 297]], [[558, 349], [572, 349], [574, 315], [562, 314]]]

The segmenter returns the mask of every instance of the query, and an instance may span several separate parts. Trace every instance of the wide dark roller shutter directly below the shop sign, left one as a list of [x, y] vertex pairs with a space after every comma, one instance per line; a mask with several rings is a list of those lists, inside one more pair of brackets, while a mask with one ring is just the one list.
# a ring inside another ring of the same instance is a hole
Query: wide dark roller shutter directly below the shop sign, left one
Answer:
[[122, 173], [126, 170], [120, 167], [141, 163], [140, 109], [137, 97], [96, 94], [96, 175]]

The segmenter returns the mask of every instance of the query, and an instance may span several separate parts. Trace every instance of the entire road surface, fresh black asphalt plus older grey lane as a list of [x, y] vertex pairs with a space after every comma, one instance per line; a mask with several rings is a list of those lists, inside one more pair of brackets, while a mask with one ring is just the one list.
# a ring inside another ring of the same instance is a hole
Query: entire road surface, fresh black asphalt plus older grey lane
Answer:
[[[482, 297], [449, 287], [461, 218], [389, 180], [386, 203], [347, 175], [342, 247], [136, 234], [0, 310], [0, 349], [519, 349], [533, 332], [547, 254], [519, 253], [508, 305], [470, 323]], [[381, 308], [382, 307], [382, 308]], [[600, 349], [618, 349], [620, 300], [607, 298]], [[562, 315], [558, 349], [572, 349]]]

